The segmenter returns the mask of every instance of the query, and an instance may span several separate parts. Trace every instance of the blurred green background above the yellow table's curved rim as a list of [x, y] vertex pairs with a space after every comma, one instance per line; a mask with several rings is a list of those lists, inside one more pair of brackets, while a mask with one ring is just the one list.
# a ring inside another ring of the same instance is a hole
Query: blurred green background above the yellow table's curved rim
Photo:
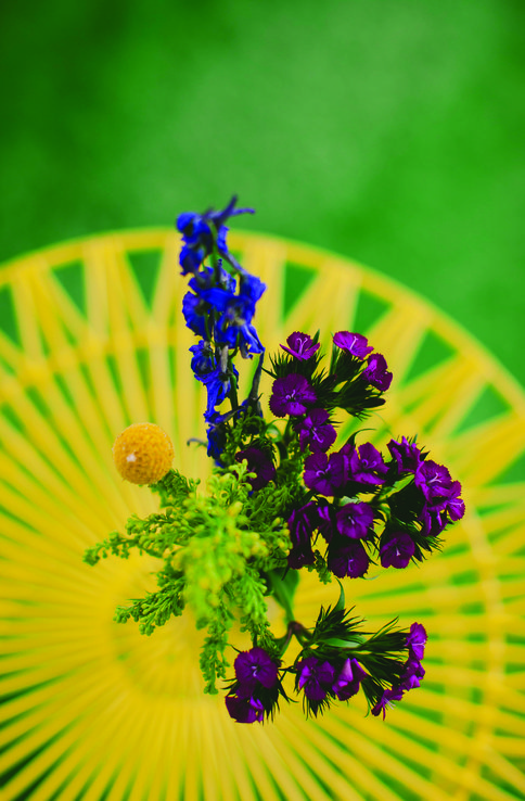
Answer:
[[525, 383], [523, 0], [28, 0], [0, 16], [0, 260], [236, 192], [257, 209], [242, 227], [397, 278]]

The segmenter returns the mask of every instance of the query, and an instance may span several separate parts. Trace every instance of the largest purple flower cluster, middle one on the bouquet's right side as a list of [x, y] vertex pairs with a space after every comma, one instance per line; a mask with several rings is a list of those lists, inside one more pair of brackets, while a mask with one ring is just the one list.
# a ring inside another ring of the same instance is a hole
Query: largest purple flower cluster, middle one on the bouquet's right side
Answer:
[[[356, 447], [350, 441], [331, 454], [306, 457], [303, 478], [315, 498], [287, 518], [291, 568], [315, 563], [312, 545], [320, 534], [328, 568], [340, 578], [362, 577], [374, 554], [383, 568], [404, 569], [423, 559], [444, 527], [463, 516], [461, 485], [446, 468], [426, 460], [427, 454], [406, 437], [392, 440], [388, 450], [392, 458], [385, 461], [371, 443]], [[414, 478], [407, 485], [410, 473]]]

